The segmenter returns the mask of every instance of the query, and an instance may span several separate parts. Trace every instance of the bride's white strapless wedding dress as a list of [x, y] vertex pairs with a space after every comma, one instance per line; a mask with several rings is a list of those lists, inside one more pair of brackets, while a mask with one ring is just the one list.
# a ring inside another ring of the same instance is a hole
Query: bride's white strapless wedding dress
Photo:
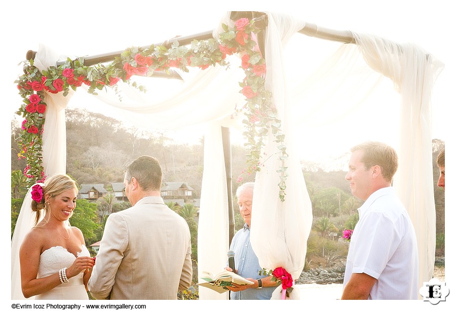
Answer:
[[[77, 255], [78, 257], [90, 256], [90, 253], [86, 246], [82, 245], [82, 250]], [[72, 265], [74, 259], [76, 257], [61, 246], [53, 246], [45, 250], [40, 257], [37, 278], [45, 278], [58, 273], [60, 269]], [[68, 283], [60, 284], [44, 294], [36, 295], [35, 300], [88, 300], [89, 296], [84, 286], [83, 276], [82, 272], [78, 276], [68, 279]]]

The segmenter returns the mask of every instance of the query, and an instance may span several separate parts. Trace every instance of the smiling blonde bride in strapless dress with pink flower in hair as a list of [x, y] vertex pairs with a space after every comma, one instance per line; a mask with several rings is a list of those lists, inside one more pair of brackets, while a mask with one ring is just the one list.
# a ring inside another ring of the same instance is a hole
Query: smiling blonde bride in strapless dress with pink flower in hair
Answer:
[[81, 230], [68, 222], [76, 207], [75, 182], [67, 175], [56, 175], [44, 185], [33, 185], [30, 193], [35, 221], [19, 250], [24, 297], [89, 299], [87, 282], [95, 260]]

